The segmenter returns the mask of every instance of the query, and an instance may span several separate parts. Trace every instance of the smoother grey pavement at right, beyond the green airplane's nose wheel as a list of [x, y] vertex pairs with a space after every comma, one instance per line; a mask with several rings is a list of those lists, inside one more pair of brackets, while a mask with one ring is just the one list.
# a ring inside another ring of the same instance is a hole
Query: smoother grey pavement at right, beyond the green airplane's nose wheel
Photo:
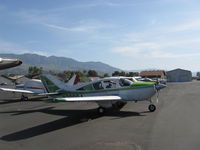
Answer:
[[200, 82], [171, 83], [162, 95], [148, 149], [200, 149]]

